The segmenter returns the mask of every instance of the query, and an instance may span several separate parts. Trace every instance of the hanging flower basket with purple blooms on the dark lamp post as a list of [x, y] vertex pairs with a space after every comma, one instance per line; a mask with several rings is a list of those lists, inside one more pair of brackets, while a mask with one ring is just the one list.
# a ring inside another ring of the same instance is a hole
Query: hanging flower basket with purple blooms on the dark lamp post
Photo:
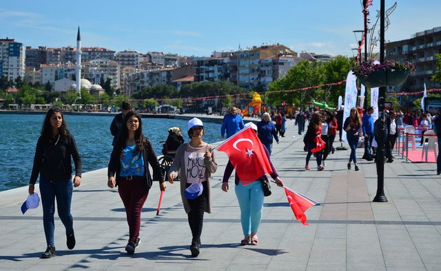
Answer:
[[352, 72], [365, 87], [401, 85], [409, 74], [415, 74], [415, 64], [385, 61], [384, 63], [355, 63]]

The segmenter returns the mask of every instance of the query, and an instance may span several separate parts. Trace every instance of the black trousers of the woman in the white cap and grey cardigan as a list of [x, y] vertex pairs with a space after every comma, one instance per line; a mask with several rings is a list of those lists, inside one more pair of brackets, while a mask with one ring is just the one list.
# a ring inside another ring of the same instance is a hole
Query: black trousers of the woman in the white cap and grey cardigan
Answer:
[[[202, 227], [204, 223], [204, 213], [205, 206], [207, 205], [208, 194], [207, 194], [207, 182], [202, 182], [204, 190], [199, 197], [196, 199], [188, 199], [188, 204], [190, 206], [190, 211], [187, 214], [188, 224], [190, 230], [192, 230], [192, 241], [201, 241]], [[190, 184], [187, 184], [187, 187]]]

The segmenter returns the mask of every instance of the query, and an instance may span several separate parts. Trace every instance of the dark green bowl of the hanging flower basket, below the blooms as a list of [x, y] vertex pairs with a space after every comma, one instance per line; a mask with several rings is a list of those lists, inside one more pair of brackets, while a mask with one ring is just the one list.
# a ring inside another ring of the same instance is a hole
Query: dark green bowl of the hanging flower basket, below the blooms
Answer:
[[401, 85], [407, 80], [409, 72], [406, 70], [396, 69], [379, 69], [372, 72], [369, 76], [358, 76], [358, 80], [365, 85], [365, 87], [389, 87]]

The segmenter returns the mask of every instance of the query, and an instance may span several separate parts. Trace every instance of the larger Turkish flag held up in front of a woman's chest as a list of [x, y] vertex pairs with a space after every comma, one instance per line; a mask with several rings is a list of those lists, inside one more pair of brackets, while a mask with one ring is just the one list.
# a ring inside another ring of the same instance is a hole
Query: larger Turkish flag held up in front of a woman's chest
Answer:
[[227, 153], [242, 182], [254, 182], [266, 173], [273, 173], [265, 149], [251, 127], [238, 131], [216, 149]]

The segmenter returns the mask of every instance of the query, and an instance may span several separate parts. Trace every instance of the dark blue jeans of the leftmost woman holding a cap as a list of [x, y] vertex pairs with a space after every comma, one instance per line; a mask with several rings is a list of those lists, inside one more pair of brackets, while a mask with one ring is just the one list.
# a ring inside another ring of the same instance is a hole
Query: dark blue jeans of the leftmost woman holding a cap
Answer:
[[43, 206], [43, 228], [48, 246], [54, 246], [54, 213], [55, 199], [57, 199], [58, 215], [63, 222], [66, 235], [74, 233], [74, 219], [70, 214], [70, 203], [73, 191], [72, 180], [50, 182], [40, 176], [41, 206]]

